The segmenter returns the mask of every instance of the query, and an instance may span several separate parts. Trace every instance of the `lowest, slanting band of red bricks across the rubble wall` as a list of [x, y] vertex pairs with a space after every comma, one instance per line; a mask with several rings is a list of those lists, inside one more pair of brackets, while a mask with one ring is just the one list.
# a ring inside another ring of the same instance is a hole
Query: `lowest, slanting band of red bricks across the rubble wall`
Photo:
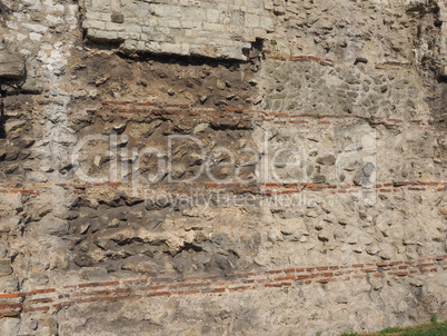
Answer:
[[[27, 302], [27, 306], [22, 308], [21, 312], [13, 309], [22, 307], [22, 303], [3, 304], [2, 306], [0, 306], [0, 309], [11, 309], [11, 312], [1, 312], [0, 317], [18, 316], [20, 315], [20, 313], [28, 313], [28, 312], [48, 312], [50, 307], [59, 309], [74, 304], [110, 302], [110, 300], [125, 299], [129, 297], [135, 298], [143, 297], [143, 295], [138, 295], [138, 290], [150, 290], [148, 294], [145, 295], [145, 297], [156, 298], [156, 297], [169, 297], [172, 295], [176, 296], [176, 295], [195, 295], [195, 294], [222, 294], [222, 293], [232, 293], [232, 291], [237, 293], [237, 291], [260, 289], [260, 288], [282, 288], [282, 287], [290, 287], [294, 285], [297, 286], [309, 285], [312, 283], [326, 285], [332, 281], [337, 281], [338, 279], [341, 280], [365, 279], [367, 276], [383, 277], [386, 274], [396, 277], [405, 277], [417, 273], [427, 274], [427, 273], [437, 273], [446, 270], [447, 267], [443, 267], [443, 269], [440, 267], [439, 268], [436, 267], [438, 263], [445, 261], [446, 259], [447, 255], [443, 255], [409, 261], [399, 260], [399, 261], [387, 261], [376, 264], [368, 263], [368, 264], [352, 264], [345, 266], [315, 266], [305, 268], [289, 267], [285, 269], [249, 271], [249, 273], [227, 274], [221, 276], [206, 276], [206, 277], [191, 276], [187, 278], [148, 278], [148, 279], [115, 280], [103, 283], [83, 283], [78, 285], [63, 286], [62, 288], [67, 288], [70, 290], [66, 293], [63, 296], [59, 290], [56, 290], [54, 288], [37, 289], [24, 293], [0, 294], [0, 298], [20, 298], [47, 293], [54, 293], [60, 298], [64, 297], [64, 302], [54, 303], [51, 306], [47, 305], [37, 307], [31, 305], [51, 303], [53, 302], [54, 298], [44, 297], [44, 298], [31, 299]], [[411, 269], [409, 269], [410, 267]], [[423, 267], [430, 267], [430, 268], [423, 268]], [[419, 270], [419, 268], [421, 269]], [[336, 273], [329, 271], [336, 269], [346, 269], [346, 270], [337, 270]], [[381, 269], [381, 271], [378, 271], [379, 269]], [[310, 271], [310, 274], [300, 274], [302, 271]], [[345, 275], [347, 274], [351, 276], [345, 277]], [[147, 286], [141, 288], [138, 287], [133, 288], [133, 285], [136, 284], [141, 283], [157, 284], [160, 281], [163, 281], [165, 284]], [[131, 287], [115, 287], [120, 285], [131, 285]], [[83, 289], [95, 287], [109, 287], [109, 289], [82, 291]], [[72, 291], [73, 289], [74, 291]], [[89, 297], [82, 298], [85, 296]]]

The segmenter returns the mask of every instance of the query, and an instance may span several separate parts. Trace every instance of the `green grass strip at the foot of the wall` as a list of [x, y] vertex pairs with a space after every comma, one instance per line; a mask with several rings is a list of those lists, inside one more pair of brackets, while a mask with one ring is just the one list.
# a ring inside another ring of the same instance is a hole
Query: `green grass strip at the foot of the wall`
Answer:
[[446, 336], [447, 320], [438, 323], [436, 315], [431, 316], [430, 323], [425, 323], [415, 327], [390, 327], [374, 334], [344, 333], [341, 336]]

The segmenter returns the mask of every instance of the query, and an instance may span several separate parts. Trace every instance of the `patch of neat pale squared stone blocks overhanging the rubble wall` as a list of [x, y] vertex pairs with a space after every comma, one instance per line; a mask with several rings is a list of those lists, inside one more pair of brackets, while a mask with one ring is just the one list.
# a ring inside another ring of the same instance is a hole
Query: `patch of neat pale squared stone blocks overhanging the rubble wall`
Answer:
[[85, 1], [87, 37], [129, 52], [246, 59], [274, 30], [271, 1]]

